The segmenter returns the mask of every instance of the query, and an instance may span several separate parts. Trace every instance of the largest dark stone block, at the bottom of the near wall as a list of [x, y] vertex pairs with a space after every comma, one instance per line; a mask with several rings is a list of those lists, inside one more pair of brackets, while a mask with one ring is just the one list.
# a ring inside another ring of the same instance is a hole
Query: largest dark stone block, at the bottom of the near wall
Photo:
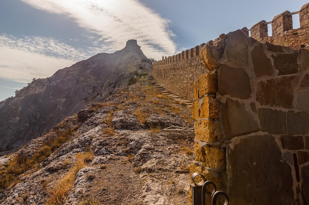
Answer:
[[294, 203], [291, 167], [273, 136], [250, 136], [227, 146], [227, 189], [231, 205]]

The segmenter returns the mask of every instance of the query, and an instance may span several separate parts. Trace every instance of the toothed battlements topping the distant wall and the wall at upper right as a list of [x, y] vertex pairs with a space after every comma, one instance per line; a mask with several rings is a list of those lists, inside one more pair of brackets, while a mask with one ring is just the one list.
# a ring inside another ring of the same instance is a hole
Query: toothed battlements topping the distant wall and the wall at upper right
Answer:
[[[299, 14], [300, 28], [298, 29], [293, 29], [292, 15], [294, 14]], [[271, 36], [268, 36], [268, 24], [271, 24]], [[270, 22], [263, 20], [253, 25], [251, 29], [243, 28], [241, 30], [247, 36], [260, 42], [269, 42], [292, 49], [309, 49], [309, 3], [303, 5], [299, 11], [292, 13], [285, 11], [275, 16]], [[218, 39], [216, 39], [215, 42], [217, 40]], [[204, 45], [205, 43], [202, 43], [199, 46], [195, 46], [192, 49], [183, 51], [174, 56], [163, 57], [162, 60], [155, 61], [154, 66], [198, 57]]]

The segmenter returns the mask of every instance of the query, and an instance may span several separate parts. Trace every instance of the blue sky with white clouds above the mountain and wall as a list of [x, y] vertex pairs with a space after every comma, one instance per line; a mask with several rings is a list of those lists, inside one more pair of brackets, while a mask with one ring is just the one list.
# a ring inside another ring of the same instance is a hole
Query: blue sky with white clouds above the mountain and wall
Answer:
[[[0, 0], [0, 101], [33, 79], [136, 39], [159, 60], [247, 27], [306, 0]], [[299, 28], [299, 15], [293, 15]], [[271, 26], [269, 25], [269, 31]], [[271, 35], [271, 32], [269, 32]]]

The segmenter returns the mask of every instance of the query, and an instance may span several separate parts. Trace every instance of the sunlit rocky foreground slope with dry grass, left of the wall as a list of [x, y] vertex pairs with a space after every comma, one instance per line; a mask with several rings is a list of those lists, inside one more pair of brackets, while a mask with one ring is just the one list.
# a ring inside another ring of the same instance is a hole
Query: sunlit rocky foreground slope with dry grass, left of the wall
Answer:
[[[1, 205], [185, 205], [191, 109], [151, 86], [118, 88], [0, 157]], [[169, 126], [185, 131], [166, 131]]]

